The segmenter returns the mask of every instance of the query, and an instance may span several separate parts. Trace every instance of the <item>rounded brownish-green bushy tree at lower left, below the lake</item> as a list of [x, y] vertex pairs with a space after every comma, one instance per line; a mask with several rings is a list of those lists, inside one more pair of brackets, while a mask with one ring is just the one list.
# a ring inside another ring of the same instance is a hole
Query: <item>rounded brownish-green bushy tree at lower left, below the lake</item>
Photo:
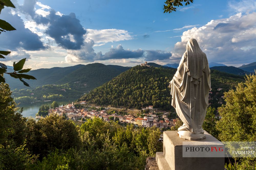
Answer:
[[27, 121], [27, 147], [33, 154], [46, 156], [55, 149], [68, 150], [80, 148], [78, 129], [74, 122], [65, 120], [62, 116], [51, 114], [37, 122]]

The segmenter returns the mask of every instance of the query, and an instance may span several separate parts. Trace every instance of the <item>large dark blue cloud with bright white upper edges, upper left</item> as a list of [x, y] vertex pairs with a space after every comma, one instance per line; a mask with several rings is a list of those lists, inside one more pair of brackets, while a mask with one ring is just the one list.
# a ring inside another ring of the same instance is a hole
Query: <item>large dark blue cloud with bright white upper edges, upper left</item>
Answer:
[[[41, 8], [36, 9], [35, 5]], [[36, 25], [32, 24], [33, 27], [30, 29], [35, 29], [36, 32], [38, 25], [45, 25], [47, 29], [44, 32], [53, 38], [59, 46], [76, 50], [81, 49], [84, 45], [83, 35], [86, 34], [86, 30], [74, 13], [63, 15], [37, 0], [25, 0], [19, 9], [24, 14], [29, 14], [33, 22], [36, 23]]]

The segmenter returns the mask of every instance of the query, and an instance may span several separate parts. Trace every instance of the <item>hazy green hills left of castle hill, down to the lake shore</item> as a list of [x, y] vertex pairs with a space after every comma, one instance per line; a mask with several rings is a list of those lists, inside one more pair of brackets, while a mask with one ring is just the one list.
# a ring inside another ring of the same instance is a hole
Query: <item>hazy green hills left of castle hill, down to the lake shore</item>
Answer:
[[[24, 88], [22, 83], [15, 83], [16, 80], [13, 78], [9, 81], [13, 82], [11, 84], [15, 88], [12, 90], [12, 97], [15, 99], [23, 97], [22, 100], [18, 99], [17, 102], [27, 103], [34, 100], [79, 98], [84, 93], [88, 93], [128, 69], [130, 67], [104, 65], [101, 63], [80, 64], [72, 67], [56, 67], [32, 71], [30, 75], [37, 78], [33, 83], [32, 81], [28, 82], [32, 88]], [[34, 95], [31, 95], [31, 93], [34, 93]], [[34, 98], [31, 99], [32, 97]]]

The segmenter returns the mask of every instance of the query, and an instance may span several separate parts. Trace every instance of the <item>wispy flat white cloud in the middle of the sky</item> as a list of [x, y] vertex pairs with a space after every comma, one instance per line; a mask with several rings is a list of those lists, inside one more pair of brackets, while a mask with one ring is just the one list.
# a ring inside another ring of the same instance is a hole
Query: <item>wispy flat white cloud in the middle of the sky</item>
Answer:
[[118, 29], [104, 29], [104, 30], [92, 30], [87, 29], [87, 38], [92, 39], [95, 43], [108, 43], [123, 40], [132, 40], [131, 33], [126, 30]]

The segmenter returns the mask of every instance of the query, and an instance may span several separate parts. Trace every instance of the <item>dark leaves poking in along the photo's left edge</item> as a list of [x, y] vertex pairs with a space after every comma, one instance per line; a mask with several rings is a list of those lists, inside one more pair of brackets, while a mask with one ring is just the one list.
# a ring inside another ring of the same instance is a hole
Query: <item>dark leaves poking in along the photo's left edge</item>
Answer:
[[[4, 8], [4, 6], [15, 8], [15, 6], [13, 5], [13, 3], [10, 0], [0, 0], [0, 13], [1, 13], [2, 9]], [[11, 24], [0, 19], [0, 34], [2, 32], [13, 31], [13, 30], [16, 30], [16, 29]], [[5, 58], [5, 56], [7, 56], [10, 53], [11, 53], [10, 51], [0, 51], [0, 58]], [[25, 86], [29, 86], [29, 84], [27, 82], [25, 82], [23, 79], [35, 80], [36, 78], [31, 75], [20, 74], [20, 73], [27, 73], [31, 70], [31, 69], [23, 69], [25, 61], [26, 61], [26, 58], [20, 60], [17, 63], [14, 62], [13, 63], [14, 71], [11, 73], [7, 73], [6, 72], [7, 66], [3, 63], [0, 63], [0, 83], [1, 82], [5, 83], [5, 79], [3, 77], [3, 74], [5, 73], [5, 74], [9, 74], [10, 76], [14, 77], [15, 79], [19, 79], [21, 82], [23, 82], [23, 84]], [[0, 104], [1, 104], [1, 102], [0, 102]]]

